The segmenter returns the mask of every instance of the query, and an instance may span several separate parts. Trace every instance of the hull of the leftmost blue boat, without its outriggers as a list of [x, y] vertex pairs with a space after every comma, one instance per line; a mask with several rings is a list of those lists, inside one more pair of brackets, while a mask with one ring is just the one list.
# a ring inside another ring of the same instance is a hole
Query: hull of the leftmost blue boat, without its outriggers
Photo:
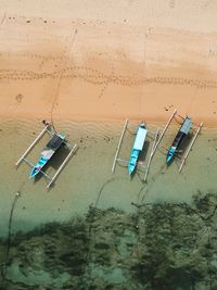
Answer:
[[41, 151], [41, 156], [37, 164], [33, 167], [29, 178], [35, 177], [42, 167], [49, 162], [58, 149], [64, 143], [65, 136], [54, 134], [52, 139], [47, 143], [46, 148]]

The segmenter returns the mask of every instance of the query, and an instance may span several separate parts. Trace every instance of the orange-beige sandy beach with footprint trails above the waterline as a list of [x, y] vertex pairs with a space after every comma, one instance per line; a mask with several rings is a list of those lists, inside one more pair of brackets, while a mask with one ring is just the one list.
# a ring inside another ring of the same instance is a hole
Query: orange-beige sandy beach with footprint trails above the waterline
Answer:
[[217, 125], [216, 1], [0, 2], [0, 116]]

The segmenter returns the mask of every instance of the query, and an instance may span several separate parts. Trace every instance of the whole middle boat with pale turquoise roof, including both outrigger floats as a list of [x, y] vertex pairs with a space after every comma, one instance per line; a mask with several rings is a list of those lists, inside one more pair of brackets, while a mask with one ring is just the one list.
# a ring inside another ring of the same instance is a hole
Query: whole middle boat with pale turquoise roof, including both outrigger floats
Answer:
[[[138, 126], [138, 129], [137, 129], [137, 134], [136, 134], [135, 142], [133, 142], [133, 147], [131, 149], [130, 157], [129, 157], [128, 161], [126, 161], [126, 160], [123, 160], [123, 159], [118, 159], [118, 153], [120, 151], [122, 142], [123, 142], [124, 135], [125, 135], [125, 131], [127, 129], [127, 126], [128, 126], [128, 119], [126, 119], [126, 122], [125, 122], [125, 125], [123, 127], [123, 131], [122, 131], [119, 141], [118, 141], [118, 146], [117, 146], [117, 149], [116, 149], [116, 153], [115, 153], [115, 157], [114, 157], [114, 162], [113, 162], [113, 166], [112, 166], [112, 173], [114, 173], [116, 163], [117, 163], [117, 161], [119, 161], [119, 162], [125, 163], [127, 165], [129, 175], [131, 175], [135, 172], [136, 167], [144, 168], [145, 169], [144, 181], [145, 181], [146, 178], [148, 178], [149, 168], [151, 166], [151, 161], [152, 161], [152, 157], [153, 157], [153, 154], [154, 154], [153, 151], [154, 151], [156, 142], [157, 142], [159, 130], [157, 129], [154, 133], [150, 131], [150, 130], [148, 130], [146, 125], [144, 123], [141, 123]], [[149, 155], [148, 164], [143, 165], [143, 164], [139, 163], [138, 160], [139, 160], [140, 152], [143, 150], [144, 142], [145, 142], [146, 138], [149, 137], [149, 133], [154, 135], [154, 142], [153, 142], [153, 146], [152, 146], [151, 153]]]

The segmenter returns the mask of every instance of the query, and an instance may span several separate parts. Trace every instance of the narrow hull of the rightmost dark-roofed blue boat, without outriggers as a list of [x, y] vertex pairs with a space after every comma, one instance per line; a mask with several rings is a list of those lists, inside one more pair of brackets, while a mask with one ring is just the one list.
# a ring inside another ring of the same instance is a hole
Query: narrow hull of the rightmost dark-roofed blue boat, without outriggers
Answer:
[[167, 155], [166, 155], [166, 163], [170, 164], [171, 161], [175, 157], [175, 154], [177, 153], [177, 150], [179, 149], [180, 144], [182, 143], [184, 137], [189, 134], [192, 126], [191, 117], [186, 117], [183, 119], [183, 123], [181, 124], [181, 127], [179, 131], [177, 133], [176, 138], [174, 139], [173, 144], [170, 146]]

